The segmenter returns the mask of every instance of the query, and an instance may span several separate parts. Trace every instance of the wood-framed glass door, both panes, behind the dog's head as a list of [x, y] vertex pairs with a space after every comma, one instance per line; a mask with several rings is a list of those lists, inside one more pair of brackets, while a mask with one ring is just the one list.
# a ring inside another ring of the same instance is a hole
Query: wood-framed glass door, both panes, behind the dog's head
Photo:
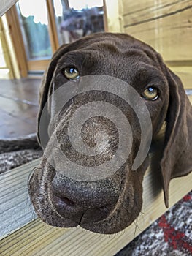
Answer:
[[103, 0], [19, 0], [7, 12], [21, 75], [44, 71], [62, 44], [104, 31]]

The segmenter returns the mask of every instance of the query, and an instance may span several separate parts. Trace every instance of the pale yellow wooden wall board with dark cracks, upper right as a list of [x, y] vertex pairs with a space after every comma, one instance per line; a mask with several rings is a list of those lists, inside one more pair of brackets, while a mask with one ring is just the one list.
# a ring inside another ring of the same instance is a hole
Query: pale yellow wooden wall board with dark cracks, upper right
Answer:
[[121, 1], [123, 28], [158, 50], [165, 60], [191, 60], [192, 1]]

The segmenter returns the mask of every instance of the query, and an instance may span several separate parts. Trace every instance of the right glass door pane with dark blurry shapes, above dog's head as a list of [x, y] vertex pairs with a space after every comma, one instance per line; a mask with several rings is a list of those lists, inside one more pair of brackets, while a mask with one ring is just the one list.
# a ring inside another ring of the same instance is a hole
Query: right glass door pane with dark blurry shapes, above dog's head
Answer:
[[104, 31], [103, 0], [53, 0], [59, 45]]

